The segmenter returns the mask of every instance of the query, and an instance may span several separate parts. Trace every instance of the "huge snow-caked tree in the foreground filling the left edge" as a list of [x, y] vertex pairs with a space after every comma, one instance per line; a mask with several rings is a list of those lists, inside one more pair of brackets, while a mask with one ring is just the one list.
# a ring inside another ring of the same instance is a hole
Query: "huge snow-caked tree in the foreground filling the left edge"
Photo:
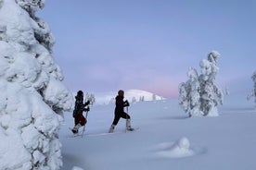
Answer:
[[58, 129], [70, 91], [52, 57], [55, 42], [35, 17], [44, 0], [0, 0], [0, 169], [55, 170]]

